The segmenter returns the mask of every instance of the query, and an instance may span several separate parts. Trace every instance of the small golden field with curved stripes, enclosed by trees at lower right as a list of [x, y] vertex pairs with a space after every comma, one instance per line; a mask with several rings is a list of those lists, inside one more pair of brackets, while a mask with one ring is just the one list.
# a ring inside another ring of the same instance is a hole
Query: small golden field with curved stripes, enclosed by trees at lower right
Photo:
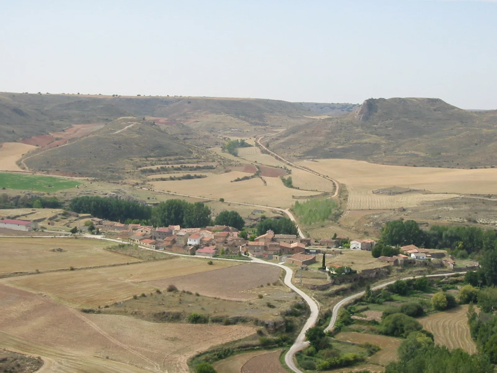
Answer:
[[467, 311], [466, 304], [418, 320], [424, 329], [433, 333], [436, 344], [445, 345], [449, 350], [461, 348], [470, 354], [476, 354], [476, 344], [471, 338], [468, 326]]

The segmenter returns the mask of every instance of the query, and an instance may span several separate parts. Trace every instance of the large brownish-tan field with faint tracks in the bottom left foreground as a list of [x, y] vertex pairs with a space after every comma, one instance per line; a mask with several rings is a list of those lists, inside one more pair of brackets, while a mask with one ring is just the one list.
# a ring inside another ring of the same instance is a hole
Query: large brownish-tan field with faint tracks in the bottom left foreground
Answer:
[[189, 357], [255, 331], [85, 314], [2, 284], [0, 298], [0, 347], [41, 355], [48, 372], [189, 372]]

